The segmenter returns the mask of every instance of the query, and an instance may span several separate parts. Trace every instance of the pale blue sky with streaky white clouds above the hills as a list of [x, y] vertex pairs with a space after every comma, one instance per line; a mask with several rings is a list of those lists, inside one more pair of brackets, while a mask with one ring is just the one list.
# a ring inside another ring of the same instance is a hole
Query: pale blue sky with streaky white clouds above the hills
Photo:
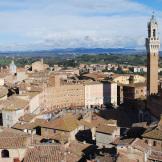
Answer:
[[0, 51], [145, 48], [162, 0], [0, 0]]

